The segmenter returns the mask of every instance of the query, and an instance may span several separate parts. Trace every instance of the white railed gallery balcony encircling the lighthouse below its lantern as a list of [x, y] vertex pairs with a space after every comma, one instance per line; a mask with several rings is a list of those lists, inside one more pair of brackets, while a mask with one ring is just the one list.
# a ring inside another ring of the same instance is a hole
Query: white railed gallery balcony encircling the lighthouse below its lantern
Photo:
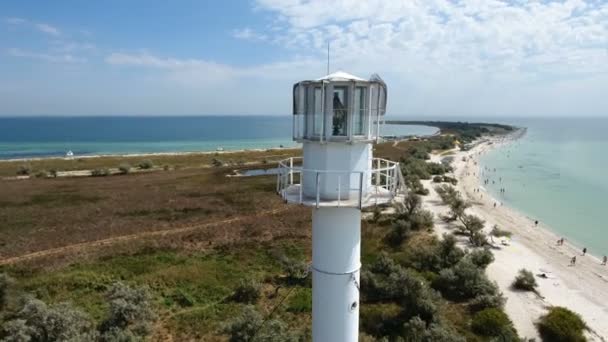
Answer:
[[[316, 207], [362, 208], [391, 200], [404, 189], [399, 163], [387, 159], [374, 158], [371, 169], [367, 171], [304, 169], [302, 164], [302, 157], [279, 162], [277, 193], [286, 201], [312, 203]], [[305, 185], [305, 181], [313, 183], [312, 187], [309, 183]], [[324, 191], [328, 187], [332, 188], [329, 191], [331, 198], [327, 198], [327, 191]]]

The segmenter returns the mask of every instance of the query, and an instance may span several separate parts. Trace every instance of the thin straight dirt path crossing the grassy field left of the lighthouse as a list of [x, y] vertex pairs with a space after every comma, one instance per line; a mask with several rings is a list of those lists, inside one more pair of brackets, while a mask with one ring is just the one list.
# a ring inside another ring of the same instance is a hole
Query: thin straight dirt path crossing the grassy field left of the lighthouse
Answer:
[[113, 244], [120, 243], [120, 242], [138, 240], [138, 239], [143, 239], [143, 238], [148, 238], [148, 237], [155, 237], [155, 236], [162, 237], [162, 236], [188, 233], [188, 232], [192, 232], [195, 230], [208, 228], [208, 227], [212, 227], [212, 226], [216, 226], [216, 225], [234, 223], [234, 222], [242, 221], [242, 220], [248, 219], [248, 218], [260, 217], [260, 216], [265, 216], [265, 215], [273, 215], [273, 214], [277, 214], [279, 212], [285, 211], [287, 209], [288, 208], [266, 210], [266, 211], [260, 212], [259, 214], [256, 214], [256, 215], [234, 217], [234, 218], [230, 218], [230, 219], [202, 223], [202, 224], [197, 224], [197, 225], [187, 226], [187, 227], [182, 227], [182, 228], [146, 231], [146, 232], [141, 232], [141, 233], [136, 233], [136, 234], [115, 236], [115, 237], [96, 240], [96, 241], [81, 242], [81, 243], [76, 243], [76, 244], [67, 245], [67, 246], [63, 246], [63, 247], [51, 248], [51, 249], [32, 252], [32, 253], [16, 256], [16, 257], [2, 259], [2, 260], [0, 260], [0, 266], [14, 265], [14, 264], [18, 264], [21, 262], [25, 262], [25, 261], [29, 261], [29, 260], [37, 259], [37, 258], [44, 258], [44, 257], [49, 257], [49, 256], [61, 255], [61, 254], [77, 253], [79, 251], [84, 251], [84, 250], [88, 250], [88, 249], [92, 249], [92, 248], [99, 248], [99, 247], [109, 246], [109, 245], [113, 245]]

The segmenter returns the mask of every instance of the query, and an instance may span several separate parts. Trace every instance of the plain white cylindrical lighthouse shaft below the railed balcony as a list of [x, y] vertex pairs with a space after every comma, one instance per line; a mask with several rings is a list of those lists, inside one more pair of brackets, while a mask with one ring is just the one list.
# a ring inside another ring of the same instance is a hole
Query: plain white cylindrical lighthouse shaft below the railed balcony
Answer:
[[357, 341], [361, 211], [319, 208], [312, 214], [312, 333], [315, 342]]

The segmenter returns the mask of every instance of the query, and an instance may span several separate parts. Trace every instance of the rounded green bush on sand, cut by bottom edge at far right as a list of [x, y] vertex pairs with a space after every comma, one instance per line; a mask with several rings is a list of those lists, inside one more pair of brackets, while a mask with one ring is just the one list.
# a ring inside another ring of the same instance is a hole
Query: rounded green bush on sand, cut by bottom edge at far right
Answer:
[[552, 307], [537, 323], [538, 332], [546, 342], [586, 341], [587, 324], [581, 316], [563, 307]]

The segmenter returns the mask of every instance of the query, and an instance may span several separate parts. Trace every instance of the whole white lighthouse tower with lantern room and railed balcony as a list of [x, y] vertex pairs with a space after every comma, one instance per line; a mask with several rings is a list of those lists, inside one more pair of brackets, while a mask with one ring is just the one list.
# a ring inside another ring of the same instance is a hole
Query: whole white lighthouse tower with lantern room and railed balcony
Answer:
[[361, 209], [388, 203], [399, 164], [373, 158], [386, 85], [336, 72], [293, 87], [293, 138], [302, 158], [279, 163], [277, 191], [312, 207], [312, 330], [315, 342], [357, 341]]

